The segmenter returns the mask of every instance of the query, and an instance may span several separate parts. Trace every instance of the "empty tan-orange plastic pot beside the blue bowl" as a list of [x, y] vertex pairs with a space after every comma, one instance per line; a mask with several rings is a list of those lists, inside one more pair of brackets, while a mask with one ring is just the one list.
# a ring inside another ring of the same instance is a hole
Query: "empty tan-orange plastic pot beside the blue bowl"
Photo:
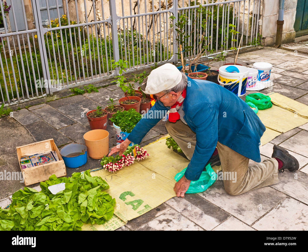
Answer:
[[83, 135], [89, 157], [101, 159], [109, 152], [109, 133], [107, 130], [90, 130]]

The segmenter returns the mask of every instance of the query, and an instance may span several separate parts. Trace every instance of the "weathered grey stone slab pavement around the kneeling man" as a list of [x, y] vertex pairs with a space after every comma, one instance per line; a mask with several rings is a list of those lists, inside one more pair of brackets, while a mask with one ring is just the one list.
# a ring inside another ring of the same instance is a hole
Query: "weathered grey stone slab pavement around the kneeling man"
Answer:
[[[264, 94], [272, 91], [283, 94], [308, 105], [308, 44], [296, 42], [283, 45], [281, 49], [265, 47], [262, 50], [239, 54], [237, 63], [252, 66], [254, 62], [266, 61], [273, 65], [272, 83]], [[233, 58], [227, 58], [232, 62]], [[221, 64], [222, 65], [222, 64]], [[220, 62], [211, 62], [217, 69]], [[246, 94], [256, 91], [247, 91]], [[108, 97], [121, 98], [123, 92], [115, 85], [100, 88], [98, 93], [76, 95], [13, 112], [13, 118], [2, 118], [0, 126], [0, 169], [19, 171], [16, 146], [54, 138], [57, 146], [71, 142], [84, 143], [83, 134], [89, 130], [83, 113], [97, 105], [107, 106]], [[245, 99], [245, 96], [241, 97]], [[39, 100], [38, 102], [39, 103]], [[115, 145], [113, 127], [109, 147]], [[142, 140], [141, 146], [167, 134], [160, 121]], [[174, 197], [146, 214], [129, 221], [118, 230], [308, 230], [308, 123], [290, 130], [261, 147], [261, 159], [271, 157], [273, 145], [277, 144], [294, 155], [300, 164], [295, 173], [279, 174], [279, 183], [230, 196], [217, 180], [208, 190], [199, 194]], [[251, 164], [254, 162], [251, 161]], [[71, 169], [83, 171], [100, 167], [100, 160], [88, 158], [86, 165]], [[32, 185], [30, 187], [38, 186]], [[19, 181], [2, 182], [0, 206], [10, 203], [14, 191], [24, 187]]]

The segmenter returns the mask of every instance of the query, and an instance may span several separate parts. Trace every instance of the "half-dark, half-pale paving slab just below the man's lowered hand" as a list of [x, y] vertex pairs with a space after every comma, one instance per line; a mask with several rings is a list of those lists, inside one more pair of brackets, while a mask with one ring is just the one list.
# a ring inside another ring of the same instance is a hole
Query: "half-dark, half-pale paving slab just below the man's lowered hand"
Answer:
[[230, 217], [230, 214], [198, 194], [185, 194], [184, 198], [174, 197], [166, 203], [205, 230], [212, 230]]

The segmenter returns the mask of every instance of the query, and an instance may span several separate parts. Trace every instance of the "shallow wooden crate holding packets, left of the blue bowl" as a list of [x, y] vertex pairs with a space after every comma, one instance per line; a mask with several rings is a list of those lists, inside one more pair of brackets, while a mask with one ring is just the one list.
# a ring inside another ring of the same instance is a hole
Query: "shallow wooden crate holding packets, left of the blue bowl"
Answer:
[[[52, 174], [55, 174], [58, 178], [66, 176], [65, 164], [57, 146], [55, 145], [54, 139], [51, 138], [41, 142], [30, 143], [27, 145], [19, 146], [16, 147], [16, 150], [17, 150], [19, 166], [22, 171], [22, 176], [24, 178], [26, 186], [45, 181]], [[40, 154], [49, 152], [52, 150], [55, 150], [56, 153], [58, 154], [59, 161], [25, 169], [21, 168], [20, 158], [22, 156], [30, 156], [38, 153]]]

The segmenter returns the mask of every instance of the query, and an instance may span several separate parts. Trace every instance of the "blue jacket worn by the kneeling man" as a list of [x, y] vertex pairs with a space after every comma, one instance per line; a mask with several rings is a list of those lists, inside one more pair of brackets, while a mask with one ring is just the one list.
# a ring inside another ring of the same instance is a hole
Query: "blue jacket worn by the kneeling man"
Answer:
[[[169, 109], [160, 101], [156, 102], [136, 124], [128, 140], [140, 143]], [[188, 77], [183, 111], [184, 120], [196, 133], [197, 140], [185, 172], [187, 179], [199, 179], [217, 141], [255, 162], [261, 162], [259, 146], [265, 126], [254, 111], [231, 91], [213, 82]]]

